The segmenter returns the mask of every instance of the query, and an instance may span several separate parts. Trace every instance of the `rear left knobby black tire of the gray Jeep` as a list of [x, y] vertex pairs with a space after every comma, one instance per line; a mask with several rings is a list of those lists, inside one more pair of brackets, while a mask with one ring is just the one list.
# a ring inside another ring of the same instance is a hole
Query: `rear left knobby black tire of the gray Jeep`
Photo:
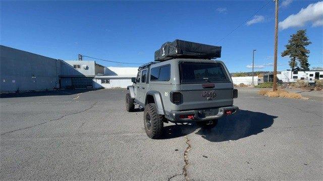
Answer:
[[149, 138], [158, 139], [163, 136], [163, 115], [157, 114], [154, 103], [147, 104], [143, 112], [143, 123]]

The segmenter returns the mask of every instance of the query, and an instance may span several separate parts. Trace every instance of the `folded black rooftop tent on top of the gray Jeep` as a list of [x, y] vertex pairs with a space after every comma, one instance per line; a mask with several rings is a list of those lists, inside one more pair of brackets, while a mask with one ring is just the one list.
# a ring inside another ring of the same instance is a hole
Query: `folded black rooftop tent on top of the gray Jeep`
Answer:
[[155, 61], [165, 61], [173, 58], [211, 59], [221, 57], [221, 46], [205, 45], [184, 40], [175, 40], [161, 45], [155, 51]]

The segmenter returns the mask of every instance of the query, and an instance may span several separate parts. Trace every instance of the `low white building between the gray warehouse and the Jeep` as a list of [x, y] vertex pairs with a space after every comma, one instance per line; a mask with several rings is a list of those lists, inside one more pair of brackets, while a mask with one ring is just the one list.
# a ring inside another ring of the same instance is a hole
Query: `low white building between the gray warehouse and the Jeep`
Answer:
[[138, 67], [105, 67], [104, 75], [95, 76], [95, 88], [127, 88], [137, 73]]

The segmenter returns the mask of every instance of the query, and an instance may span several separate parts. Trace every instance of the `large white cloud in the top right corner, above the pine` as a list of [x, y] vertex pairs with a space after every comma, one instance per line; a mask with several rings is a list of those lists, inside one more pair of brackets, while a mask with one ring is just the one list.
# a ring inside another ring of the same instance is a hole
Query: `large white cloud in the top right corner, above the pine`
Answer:
[[303, 27], [305, 23], [311, 22], [312, 26], [321, 26], [323, 18], [323, 2], [317, 2], [308, 5], [305, 9], [301, 9], [296, 15], [290, 15], [284, 21], [279, 22], [280, 29], [291, 27]]

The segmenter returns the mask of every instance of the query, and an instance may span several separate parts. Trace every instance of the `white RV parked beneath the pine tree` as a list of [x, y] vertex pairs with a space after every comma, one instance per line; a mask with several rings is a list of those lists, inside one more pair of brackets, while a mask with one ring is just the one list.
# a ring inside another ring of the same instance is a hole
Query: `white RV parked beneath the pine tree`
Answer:
[[281, 74], [277, 74], [277, 78], [283, 82], [307, 80], [309, 83], [313, 83], [315, 79], [323, 79], [323, 70], [302, 70], [297, 67], [293, 70], [282, 71]]

